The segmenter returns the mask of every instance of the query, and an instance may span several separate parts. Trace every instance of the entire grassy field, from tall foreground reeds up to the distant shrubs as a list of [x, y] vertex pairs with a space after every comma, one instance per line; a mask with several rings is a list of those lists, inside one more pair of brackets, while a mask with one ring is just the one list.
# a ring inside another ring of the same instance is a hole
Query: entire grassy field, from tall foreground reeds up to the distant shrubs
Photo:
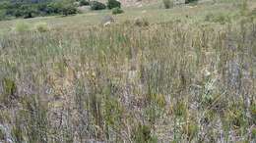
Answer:
[[[108, 11], [23, 22], [51, 30], [1, 22], [0, 141], [255, 142], [249, 6], [127, 8], [108, 26]], [[143, 15], [149, 24], [133, 22]]]

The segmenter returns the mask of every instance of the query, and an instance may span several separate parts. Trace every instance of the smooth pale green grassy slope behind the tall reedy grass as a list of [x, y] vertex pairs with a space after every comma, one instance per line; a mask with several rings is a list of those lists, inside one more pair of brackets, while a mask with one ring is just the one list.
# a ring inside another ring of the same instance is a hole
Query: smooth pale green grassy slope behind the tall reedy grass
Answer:
[[[234, 3], [234, 2], [233, 2]], [[200, 22], [202, 23], [209, 13], [224, 13], [225, 15], [230, 15], [235, 17], [237, 15], [238, 9], [230, 3], [215, 4], [212, 3], [202, 3], [197, 6], [186, 6], [186, 7], [175, 7], [173, 9], [164, 10], [161, 8], [161, 3], [156, 5], [146, 5], [142, 8], [138, 7], [128, 7], [124, 8], [125, 13], [115, 17], [116, 23], [123, 23], [127, 20], [134, 20], [138, 17], [143, 17], [148, 19], [151, 24], [169, 22], [175, 19], [184, 20], [187, 23], [190, 22]], [[104, 16], [111, 15], [108, 10], [99, 12], [86, 12], [85, 14], [80, 14], [71, 17], [45, 17], [45, 18], [35, 18], [31, 20], [15, 20], [0, 22], [0, 33], [10, 31], [15, 24], [20, 22], [25, 22], [33, 26], [36, 23], [47, 23], [51, 27], [61, 27], [61, 28], [79, 28], [78, 26], [87, 26], [100, 24]], [[234, 18], [235, 19], [235, 18]]]

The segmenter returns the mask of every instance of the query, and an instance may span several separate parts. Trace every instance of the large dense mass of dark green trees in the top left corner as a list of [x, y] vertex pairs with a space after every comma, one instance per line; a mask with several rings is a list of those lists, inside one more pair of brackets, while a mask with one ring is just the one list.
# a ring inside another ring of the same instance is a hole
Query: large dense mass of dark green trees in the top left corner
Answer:
[[76, 13], [77, 8], [73, 0], [4, 0], [0, 2], [0, 20]]

